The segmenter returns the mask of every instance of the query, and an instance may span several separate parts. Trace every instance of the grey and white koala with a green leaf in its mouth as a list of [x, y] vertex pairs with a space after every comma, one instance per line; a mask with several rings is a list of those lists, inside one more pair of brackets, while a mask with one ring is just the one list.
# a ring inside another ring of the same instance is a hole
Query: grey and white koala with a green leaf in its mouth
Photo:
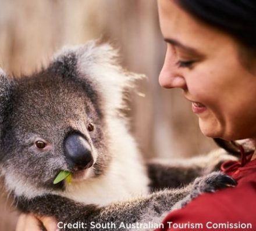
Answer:
[[[139, 75], [116, 62], [108, 44], [63, 48], [31, 76], [0, 73], [0, 169], [17, 209], [84, 222], [161, 222], [204, 192], [236, 182], [213, 172], [225, 151], [182, 162], [143, 163], [122, 111]], [[54, 183], [61, 171], [72, 182]], [[212, 172], [212, 173], [211, 173]], [[150, 229], [143, 229], [150, 230]]]

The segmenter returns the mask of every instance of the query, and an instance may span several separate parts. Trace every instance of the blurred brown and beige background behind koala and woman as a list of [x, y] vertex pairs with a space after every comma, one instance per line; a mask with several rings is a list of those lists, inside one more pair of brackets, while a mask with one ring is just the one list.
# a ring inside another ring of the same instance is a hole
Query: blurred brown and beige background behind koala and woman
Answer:
[[[0, 67], [29, 74], [63, 45], [111, 41], [123, 66], [147, 75], [145, 96], [131, 96], [131, 131], [145, 158], [189, 157], [215, 147], [201, 135], [191, 105], [179, 89], [162, 89], [158, 73], [165, 44], [155, 0], [0, 0]], [[2, 198], [0, 230], [15, 230], [16, 212]], [[13, 211], [13, 210], [11, 210]]]

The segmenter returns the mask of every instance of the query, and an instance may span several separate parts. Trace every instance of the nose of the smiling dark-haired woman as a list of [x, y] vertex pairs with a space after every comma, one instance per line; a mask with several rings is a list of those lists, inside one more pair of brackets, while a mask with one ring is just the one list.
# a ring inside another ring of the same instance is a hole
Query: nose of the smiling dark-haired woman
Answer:
[[163, 88], [186, 88], [186, 81], [182, 71], [177, 66], [177, 58], [173, 50], [167, 51], [165, 62], [159, 74], [159, 84]]

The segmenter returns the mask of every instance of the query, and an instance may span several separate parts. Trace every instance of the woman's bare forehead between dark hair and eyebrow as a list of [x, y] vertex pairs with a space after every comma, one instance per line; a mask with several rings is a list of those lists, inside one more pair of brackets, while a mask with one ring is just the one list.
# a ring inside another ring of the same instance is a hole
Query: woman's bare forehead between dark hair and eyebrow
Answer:
[[[195, 19], [175, 1], [158, 0], [159, 22], [163, 38], [177, 41], [202, 52], [215, 50], [220, 44], [230, 44], [228, 34]], [[234, 41], [233, 41], [234, 42]]]

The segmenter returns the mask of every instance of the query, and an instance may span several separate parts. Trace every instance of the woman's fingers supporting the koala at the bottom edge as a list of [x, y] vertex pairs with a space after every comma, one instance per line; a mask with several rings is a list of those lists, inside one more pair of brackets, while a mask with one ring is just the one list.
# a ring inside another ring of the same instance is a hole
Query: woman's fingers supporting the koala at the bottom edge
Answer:
[[21, 214], [17, 225], [16, 231], [41, 231], [41, 226], [47, 231], [57, 231], [57, 222], [50, 216], [35, 216], [33, 214]]

